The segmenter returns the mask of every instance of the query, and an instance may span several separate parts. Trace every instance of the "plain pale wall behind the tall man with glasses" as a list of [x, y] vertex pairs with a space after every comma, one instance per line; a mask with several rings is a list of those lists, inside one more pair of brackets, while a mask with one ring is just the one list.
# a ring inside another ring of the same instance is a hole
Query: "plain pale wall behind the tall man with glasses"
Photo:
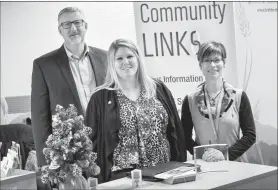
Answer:
[[31, 94], [33, 60], [63, 43], [57, 16], [66, 6], [85, 12], [89, 45], [136, 41], [132, 2], [1, 2], [1, 96]]

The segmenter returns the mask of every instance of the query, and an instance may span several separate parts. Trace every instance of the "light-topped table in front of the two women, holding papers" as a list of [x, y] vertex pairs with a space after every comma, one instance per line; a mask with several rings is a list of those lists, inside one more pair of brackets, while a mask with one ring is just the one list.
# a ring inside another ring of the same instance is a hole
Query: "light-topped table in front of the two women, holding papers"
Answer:
[[[277, 167], [236, 161], [200, 160], [198, 164], [203, 173], [197, 174], [196, 181], [175, 185], [143, 181], [140, 189], [277, 189]], [[131, 179], [102, 183], [98, 189], [132, 189]]]

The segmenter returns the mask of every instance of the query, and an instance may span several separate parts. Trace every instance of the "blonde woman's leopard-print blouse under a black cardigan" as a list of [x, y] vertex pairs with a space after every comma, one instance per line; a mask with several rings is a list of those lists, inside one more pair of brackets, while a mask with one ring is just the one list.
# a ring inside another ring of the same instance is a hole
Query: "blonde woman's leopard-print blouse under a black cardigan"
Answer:
[[144, 95], [141, 90], [138, 99], [132, 101], [117, 91], [122, 127], [113, 153], [112, 172], [170, 161], [168, 114], [156, 98], [146, 99]]

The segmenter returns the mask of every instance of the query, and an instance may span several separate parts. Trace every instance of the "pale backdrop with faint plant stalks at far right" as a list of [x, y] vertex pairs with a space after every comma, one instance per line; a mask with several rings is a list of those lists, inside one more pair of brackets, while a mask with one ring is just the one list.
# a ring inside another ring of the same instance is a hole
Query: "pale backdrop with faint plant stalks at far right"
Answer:
[[261, 150], [249, 149], [249, 161], [277, 166], [277, 2], [235, 2], [234, 17], [238, 85], [250, 100]]

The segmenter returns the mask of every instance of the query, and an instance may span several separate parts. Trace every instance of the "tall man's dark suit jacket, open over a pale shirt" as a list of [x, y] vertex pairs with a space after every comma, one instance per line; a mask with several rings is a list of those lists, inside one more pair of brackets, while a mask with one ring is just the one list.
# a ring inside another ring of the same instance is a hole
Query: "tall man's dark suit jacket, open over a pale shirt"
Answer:
[[[104, 50], [89, 47], [89, 58], [95, 73], [96, 85], [103, 84], [107, 53]], [[75, 81], [70, 69], [64, 46], [34, 60], [32, 73], [31, 115], [38, 165], [45, 165], [42, 153], [47, 137], [52, 133], [51, 118], [56, 105], [67, 108], [74, 104], [78, 114], [82, 111]]]

